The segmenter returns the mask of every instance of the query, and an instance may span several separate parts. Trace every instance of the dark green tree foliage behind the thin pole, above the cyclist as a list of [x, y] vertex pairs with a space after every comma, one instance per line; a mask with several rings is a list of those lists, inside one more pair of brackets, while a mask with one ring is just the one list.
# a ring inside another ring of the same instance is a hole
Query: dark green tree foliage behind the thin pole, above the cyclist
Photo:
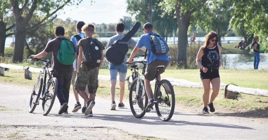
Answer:
[[[152, 1], [152, 24], [155, 32], [166, 38], [177, 29], [175, 14], [163, 13], [159, 4], [161, 0]], [[136, 20], [145, 24], [149, 22], [149, 1], [148, 0], [127, 0], [127, 11], [134, 15]]]

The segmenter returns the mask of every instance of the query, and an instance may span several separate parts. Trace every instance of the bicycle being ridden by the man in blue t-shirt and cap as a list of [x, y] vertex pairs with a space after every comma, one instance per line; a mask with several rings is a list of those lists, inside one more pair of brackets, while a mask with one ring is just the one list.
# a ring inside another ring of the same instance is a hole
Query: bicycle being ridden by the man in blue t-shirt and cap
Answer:
[[[137, 55], [134, 58], [144, 57], [145, 55]], [[131, 64], [132, 84], [129, 92], [129, 104], [132, 114], [136, 118], [141, 118], [146, 113], [146, 107], [148, 104], [148, 97], [145, 91], [144, 80], [141, 77], [145, 74], [147, 61], [133, 61]], [[143, 66], [139, 66], [137, 63], [141, 63]], [[139, 67], [142, 69], [142, 75], [139, 74]], [[160, 120], [168, 121], [171, 119], [175, 109], [175, 93], [173, 86], [168, 80], [158, 80], [157, 73], [164, 66], [158, 66], [156, 72], [156, 84], [152, 97], [155, 103], [156, 113]], [[151, 91], [152, 92], [152, 91]]]

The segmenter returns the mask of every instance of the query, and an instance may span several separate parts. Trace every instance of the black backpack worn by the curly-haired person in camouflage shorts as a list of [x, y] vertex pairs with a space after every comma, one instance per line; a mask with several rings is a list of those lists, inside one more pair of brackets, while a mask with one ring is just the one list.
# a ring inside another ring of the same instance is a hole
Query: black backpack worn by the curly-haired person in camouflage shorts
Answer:
[[89, 43], [88, 43], [83, 61], [85, 65], [88, 66], [89, 68], [98, 67], [100, 66], [100, 62], [101, 62], [102, 48], [100, 45], [98, 45], [97, 39], [87, 38], [87, 40]]

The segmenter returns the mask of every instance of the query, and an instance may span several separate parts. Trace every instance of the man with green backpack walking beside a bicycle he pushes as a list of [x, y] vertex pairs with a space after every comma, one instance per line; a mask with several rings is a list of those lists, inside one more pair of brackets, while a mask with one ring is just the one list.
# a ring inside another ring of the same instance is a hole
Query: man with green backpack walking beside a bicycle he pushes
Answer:
[[55, 28], [55, 36], [50, 40], [45, 50], [37, 55], [31, 55], [32, 58], [42, 58], [52, 51], [52, 69], [54, 70], [53, 77], [57, 78], [58, 90], [57, 97], [60, 101], [59, 114], [66, 113], [69, 101], [69, 90], [71, 85], [72, 74], [74, 71], [73, 63], [76, 55], [76, 47], [74, 42], [64, 37], [65, 30], [58, 26]]

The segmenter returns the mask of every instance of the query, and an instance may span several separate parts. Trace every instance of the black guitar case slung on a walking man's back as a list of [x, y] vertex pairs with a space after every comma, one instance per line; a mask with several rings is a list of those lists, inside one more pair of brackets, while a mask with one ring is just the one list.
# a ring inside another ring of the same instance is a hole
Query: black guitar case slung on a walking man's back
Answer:
[[131, 30], [127, 32], [127, 34], [125, 34], [124, 37], [115, 41], [111, 46], [109, 46], [109, 48], [105, 51], [105, 57], [110, 63], [114, 65], [119, 65], [124, 61], [125, 55], [128, 51], [127, 42], [131, 39], [131, 37], [134, 36], [140, 26], [141, 23], [136, 22], [135, 25], [131, 28]]

